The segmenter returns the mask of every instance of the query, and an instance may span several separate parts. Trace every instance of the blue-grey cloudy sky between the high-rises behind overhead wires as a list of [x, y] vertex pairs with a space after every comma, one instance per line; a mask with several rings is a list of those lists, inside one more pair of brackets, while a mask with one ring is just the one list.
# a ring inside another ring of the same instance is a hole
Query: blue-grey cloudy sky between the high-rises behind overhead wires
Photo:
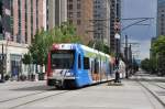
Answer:
[[[156, 15], [157, 0], [121, 0], [121, 18], [152, 18], [141, 25], [133, 25], [122, 31], [121, 37], [128, 35], [129, 42], [140, 43], [140, 46], [133, 46], [133, 51], [140, 51], [136, 58], [144, 59], [150, 57], [151, 39], [156, 36]], [[122, 20], [121, 26], [124, 28], [139, 20]], [[146, 25], [142, 25], [146, 24]]]

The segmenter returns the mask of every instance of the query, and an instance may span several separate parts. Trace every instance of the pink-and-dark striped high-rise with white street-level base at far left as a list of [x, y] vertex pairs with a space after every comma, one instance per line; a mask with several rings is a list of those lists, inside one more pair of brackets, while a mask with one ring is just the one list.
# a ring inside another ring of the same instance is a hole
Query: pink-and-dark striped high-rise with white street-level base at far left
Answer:
[[46, 30], [46, 0], [0, 0], [0, 57], [3, 45], [4, 73], [18, 76], [24, 73], [22, 57], [36, 30]]

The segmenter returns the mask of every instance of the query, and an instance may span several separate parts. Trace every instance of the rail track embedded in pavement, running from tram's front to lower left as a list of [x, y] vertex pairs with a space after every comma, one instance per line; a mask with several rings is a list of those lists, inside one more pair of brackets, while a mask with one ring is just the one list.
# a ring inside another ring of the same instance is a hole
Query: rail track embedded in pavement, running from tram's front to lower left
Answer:
[[51, 90], [52, 89], [47, 89], [47, 90], [40, 91], [40, 92], [32, 92], [32, 94], [28, 94], [24, 96], [1, 100], [0, 109], [3, 109], [3, 108], [16, 109], [16, 108], [26, 106], [35, 101], [40, 101], [50, 97], [55, 97], [55, 96], [64, 95], [64, 94], [72, 91], [72, 90], [54, 90], [54, 91], [51, 91]]

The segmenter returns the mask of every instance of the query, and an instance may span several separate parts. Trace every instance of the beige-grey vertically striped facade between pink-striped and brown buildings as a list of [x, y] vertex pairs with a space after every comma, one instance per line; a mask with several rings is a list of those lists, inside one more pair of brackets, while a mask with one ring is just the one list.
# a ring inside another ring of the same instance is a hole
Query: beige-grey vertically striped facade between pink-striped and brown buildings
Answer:
[[47, 0], [47, 30], [67, 21], [67, 0]]

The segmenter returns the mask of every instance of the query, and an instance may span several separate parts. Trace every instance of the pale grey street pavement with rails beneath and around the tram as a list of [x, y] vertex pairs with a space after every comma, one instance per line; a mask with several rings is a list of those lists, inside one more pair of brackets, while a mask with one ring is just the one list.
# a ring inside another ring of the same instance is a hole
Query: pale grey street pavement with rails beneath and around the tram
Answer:
[[74, 90], [47, 87], [46, 81], [7, 81], [0, 84], [0, 109], [164, 109], [136, 77], [121, 85], [106, 83]]

